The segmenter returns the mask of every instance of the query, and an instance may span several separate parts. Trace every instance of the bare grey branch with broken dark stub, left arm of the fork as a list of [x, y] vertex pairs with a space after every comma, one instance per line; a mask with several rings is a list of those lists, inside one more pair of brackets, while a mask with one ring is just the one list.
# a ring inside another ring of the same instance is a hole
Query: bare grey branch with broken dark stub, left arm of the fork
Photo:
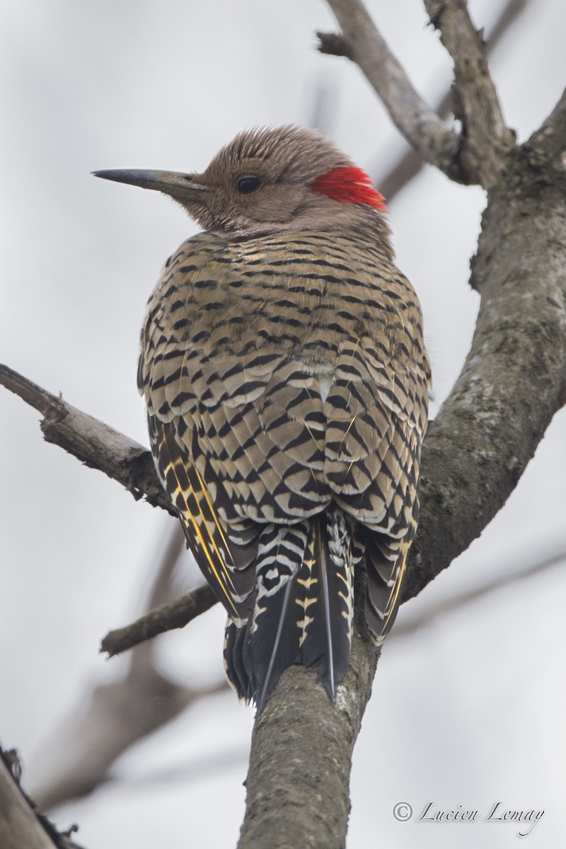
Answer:
[[417, 93], [361, 0], [328, 0], [328, 5], [336, 15], [342, 35], [318, 33], [322, 51], [339, 50], [341, 55], [356, 62], [383, 100], [395, 125], [423, 159], [451, 179], [468, 182], [457, 158], [461, 139]]

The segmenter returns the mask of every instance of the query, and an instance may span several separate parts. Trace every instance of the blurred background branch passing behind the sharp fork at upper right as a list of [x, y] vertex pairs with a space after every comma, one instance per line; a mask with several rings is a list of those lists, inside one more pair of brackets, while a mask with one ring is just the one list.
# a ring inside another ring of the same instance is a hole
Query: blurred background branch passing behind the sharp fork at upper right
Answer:
[[[518, 19], [518, 16], [524, 12], [527, 3], [528, 0], [507, 0], [485, 44], [486, 56], [490, 56], [491, 53], [495, 52], [502, 37]], [[452, 88], [449, 87], [434, 107], [436, 114], [443, 120], [451, 113], [452, 99]], [[385, 200], [390, 203], [395, 195], [399, 194], [411, 182], [413, 177], [417, 176], [419, 171], [422, 170], [423, 165], [423, 157], [415, 148], [410, 148], [395, 162], [395, 165], [390, 168], [384, 177], [377, 176], [375, 183], [378, 185], [379, 191], [384, 194]]]

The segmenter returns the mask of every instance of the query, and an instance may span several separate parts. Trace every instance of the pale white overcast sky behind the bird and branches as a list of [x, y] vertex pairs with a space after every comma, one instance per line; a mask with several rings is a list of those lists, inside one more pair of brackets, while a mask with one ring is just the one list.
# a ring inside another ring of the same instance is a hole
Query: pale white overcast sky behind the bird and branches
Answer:
[[[472, 3], [488, 37], [498, 5]], [[451, 65], [422, 5], [368, 6], [434, 102]], [[321, 90], [325, 131], [377, 180], [404, 142], [359, 70], [314, 49], [317, 29], [335, 29], [322, 2], [4, 0], [2, 11], [0, 360], [147, 443], [139, 326], [162, 262], [195, 227], [170, 200], [90, 171], [203, 169], [245, 127], [311, 123]], [[563, 0], [530, 0], [493, 56], [519, 140], [561, 93], [564, 31]], [[427, 167], [391, 205], [398, 263], [423, 303], [437, 402], [474, 326], [468, 261], [484, 202]], [[86, 689], [120, 675], [98, 643], [141, 610], [171, 521], [44, 443], [38, 418], [0, 391], [0, 739], [20, 749], [28, 784], [57, 760], [50, 739]], [[564, 469], [560, 413], [496, 520], [399, 621], [566, 549]], [[500, 800], [544, 808], [528, 845], [558, 846], [565, 590], [555, 567], [389, 638], [356, 748], [350, 849], [518, 840], [509, 823], [397, 823], [397, 801], [417, 814], [429, 801], [484, 815]], [[222, 627], [211, 610], [162, 638], [163, 668], [182, 683], [215, 680]], [[124, 756], [113, 783], [55, 812], [57, 823], [80, 823], [89, 849], [234, 846], [251, 722], [233, 694], [200, 703]], [[205, 768], [209, 757], [223, 765]]]

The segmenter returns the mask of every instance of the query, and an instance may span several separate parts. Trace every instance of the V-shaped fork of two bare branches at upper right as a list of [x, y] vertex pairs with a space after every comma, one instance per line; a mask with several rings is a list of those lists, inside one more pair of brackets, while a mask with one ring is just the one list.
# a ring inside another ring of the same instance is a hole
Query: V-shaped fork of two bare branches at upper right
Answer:
[[460, 134], [446, 127], [417, 93], [361, 0], [328, 0], [342, 32], [317, 33], [319, 49], [359, 65], [396, 127], [424, 160], [458, 183], [489, 188], [500, 177], [515, 137], [503, 120], [483, 43], [465, 0], [424, 0], [424, 4], [454, 61]]

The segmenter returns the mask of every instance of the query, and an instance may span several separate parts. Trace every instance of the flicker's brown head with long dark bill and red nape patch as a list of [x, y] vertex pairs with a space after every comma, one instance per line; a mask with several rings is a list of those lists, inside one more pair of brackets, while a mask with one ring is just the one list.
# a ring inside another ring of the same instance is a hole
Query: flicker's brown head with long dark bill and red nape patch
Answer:
[[367, 174], [316, 130], [286, 126], [241, 132], [202, 174], [95, 174], [168, 194], [201, 227], [228, 239], [353, 228], [370, 231], [389, 246], [384, 198]]

